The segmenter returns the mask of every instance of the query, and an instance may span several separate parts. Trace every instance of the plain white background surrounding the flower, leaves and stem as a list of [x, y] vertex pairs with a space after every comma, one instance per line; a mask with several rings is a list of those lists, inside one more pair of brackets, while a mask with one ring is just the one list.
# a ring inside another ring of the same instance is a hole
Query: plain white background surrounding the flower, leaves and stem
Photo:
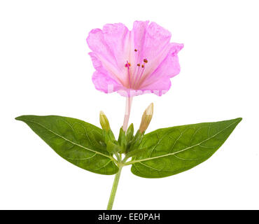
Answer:
[[123, 169], [114, 209], [259, 209], [258, 1], [1, 1], [0, 209], [106, 209], [113, 176], [60, 158], [16, 116], [59, 115], [118, 133], [125, 98], [95, 90], [88, 32], [151, 20], [184, 43], [181, 73], [162, 97], [133, 100], [130, 122], [154, 102], [148, 131], [244, 118], [209, 160], [176, 176]]

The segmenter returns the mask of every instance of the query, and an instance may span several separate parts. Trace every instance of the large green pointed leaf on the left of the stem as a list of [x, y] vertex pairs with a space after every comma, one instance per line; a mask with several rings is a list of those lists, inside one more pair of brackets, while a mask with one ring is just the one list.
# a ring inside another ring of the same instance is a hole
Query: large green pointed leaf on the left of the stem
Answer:
[[106, 151], [99, 127], [61, 116], [20, 116], [58, 155], [80, 168], [97, 174], [116, 174], [118, 167]]

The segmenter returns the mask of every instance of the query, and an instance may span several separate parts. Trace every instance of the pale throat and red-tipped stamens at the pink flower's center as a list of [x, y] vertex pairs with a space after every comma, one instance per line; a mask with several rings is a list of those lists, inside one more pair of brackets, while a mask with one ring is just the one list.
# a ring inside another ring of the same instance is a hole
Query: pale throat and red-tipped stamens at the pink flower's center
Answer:
[[148, 63], [147, 58], [139, 57], [139, 50], [134, 49], [134, 52], [137, 54], [135, 58], [137, 59], [137, 63], [135, 64], [134, 70], [130, 69], [130, 62], [127, 61], [125, 67], [127, 68], [127, 75], [128, 75], [128, 87], [133, 89], [138, 89], [143, 78], [143, 74], [145, 71], [145, 64]]

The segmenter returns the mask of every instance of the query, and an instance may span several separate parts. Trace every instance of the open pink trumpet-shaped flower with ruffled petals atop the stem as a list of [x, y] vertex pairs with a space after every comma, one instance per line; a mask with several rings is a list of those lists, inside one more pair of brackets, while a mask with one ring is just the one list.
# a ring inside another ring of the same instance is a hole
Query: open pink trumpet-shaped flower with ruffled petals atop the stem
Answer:
[[170, 38], [169, 31], [148, 21], [135, 21], [132, 31], [122, 23], [92, 29], [87, 44], [97, 90], [117, 91], [125, 97], [167, 92], [170, 78], [180, 72], [177, 53], [183, 48], [183, 44], [170, 43]]

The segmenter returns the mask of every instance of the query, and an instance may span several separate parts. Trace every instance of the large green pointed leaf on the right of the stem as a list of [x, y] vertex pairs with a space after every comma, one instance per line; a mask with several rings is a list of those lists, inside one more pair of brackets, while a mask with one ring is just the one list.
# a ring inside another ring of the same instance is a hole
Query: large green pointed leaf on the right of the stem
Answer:
[[179, 174], [204, 162], [230, 136], [241, 118], [215, 123], [168, 127], [144, 136], [140, 150], [132, 158], [132, 173], [145, 178]]

